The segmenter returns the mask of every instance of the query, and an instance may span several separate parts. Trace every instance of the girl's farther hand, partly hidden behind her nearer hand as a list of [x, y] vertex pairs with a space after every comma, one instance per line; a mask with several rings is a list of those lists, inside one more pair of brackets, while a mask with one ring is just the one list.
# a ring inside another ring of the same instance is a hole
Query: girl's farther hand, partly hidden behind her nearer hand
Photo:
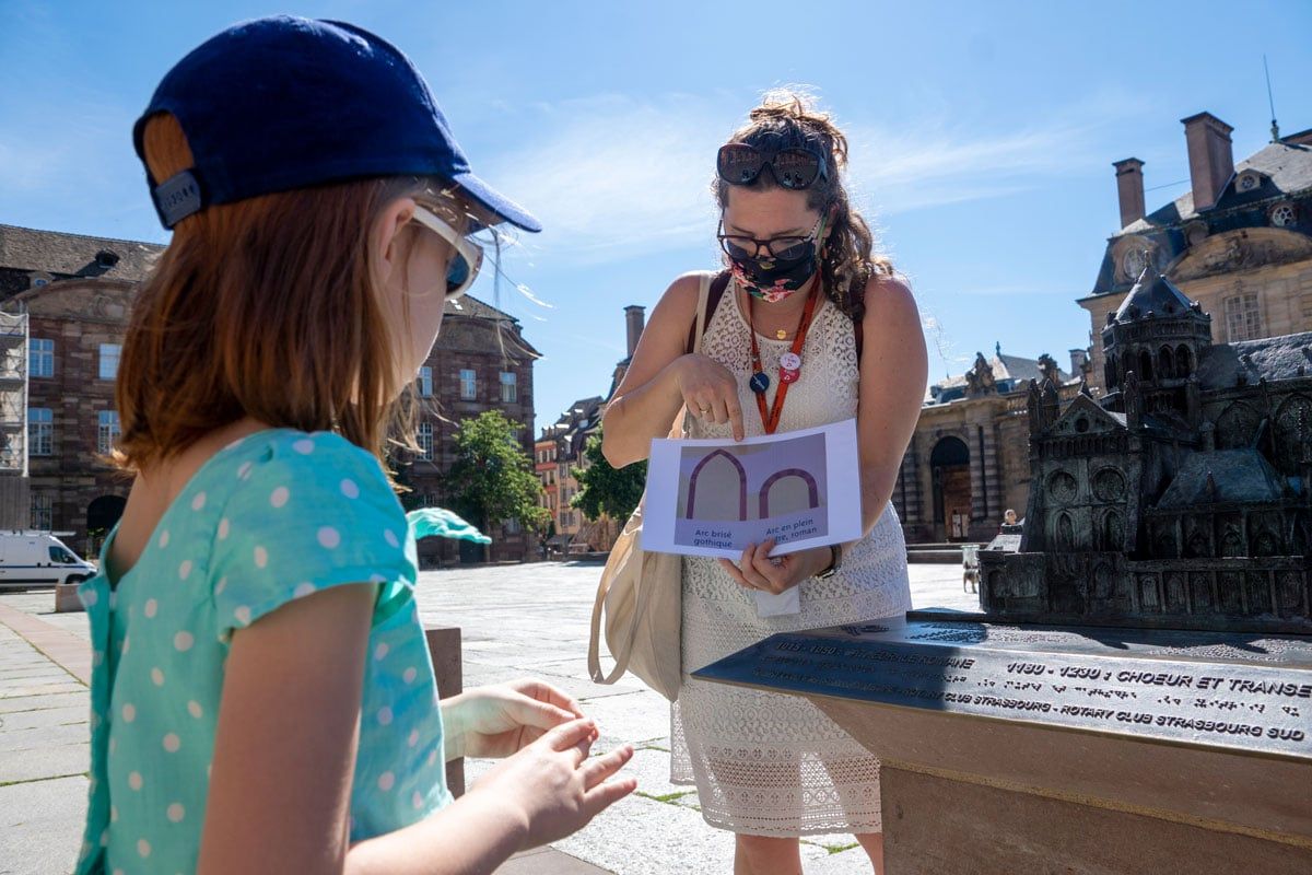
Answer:
[[509, 757], [581, 716], [577, 702], [542, 681], [476, 686], [442, 702], [447, 758]]

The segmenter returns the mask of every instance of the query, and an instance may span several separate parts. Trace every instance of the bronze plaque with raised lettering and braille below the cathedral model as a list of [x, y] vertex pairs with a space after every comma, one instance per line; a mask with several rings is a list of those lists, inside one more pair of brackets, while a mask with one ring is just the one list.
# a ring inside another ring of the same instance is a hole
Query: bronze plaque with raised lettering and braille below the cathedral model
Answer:
[[1312, 760], [1312, 639], [878, 621], [693, 672], [779, 693]]

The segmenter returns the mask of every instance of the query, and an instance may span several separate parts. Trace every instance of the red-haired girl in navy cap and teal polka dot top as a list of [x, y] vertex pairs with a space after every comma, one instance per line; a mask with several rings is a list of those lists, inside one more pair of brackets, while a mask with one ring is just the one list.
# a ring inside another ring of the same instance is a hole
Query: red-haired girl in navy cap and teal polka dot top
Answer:
[[[79, 872], [487, 872], [634, 788], [544, 683], [438, 702], [380, 464], [483, 224], [417, 71], [350, 25], [231, 28], [134, 131], [173, 240], [123, 346], [135, 472], [91, 614]], [[508, 757], [453, 802], [446, 760]]]

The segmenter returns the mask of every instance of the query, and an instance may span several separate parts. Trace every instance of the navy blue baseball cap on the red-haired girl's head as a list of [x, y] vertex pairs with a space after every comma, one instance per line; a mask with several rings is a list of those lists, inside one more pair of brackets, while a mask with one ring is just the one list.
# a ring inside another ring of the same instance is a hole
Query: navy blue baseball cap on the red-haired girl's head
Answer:
[[133, 127], [172, 113], [194, 167], [151, 178], [172, 228], [211, 203], [375, 176], [438, 177], [497, 222], [542, 224], [470, 169], [424, 77], [387, 41], [340, 21], [274, 16], [211, 37], [177, 63]]

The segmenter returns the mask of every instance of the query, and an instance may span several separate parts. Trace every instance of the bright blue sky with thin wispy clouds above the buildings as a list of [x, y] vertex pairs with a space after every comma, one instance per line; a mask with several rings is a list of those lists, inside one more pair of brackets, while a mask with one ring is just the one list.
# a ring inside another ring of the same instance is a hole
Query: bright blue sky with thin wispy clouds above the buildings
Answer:
[[[1181, 118], [1312, 127], [1312, 3], [25, 3], [0, 0], [0, 222], [165, 241], [130, 129], [168, 67], [273, 12], [345, 18], [425, 73], [475, 169], [547, 231], [475, 294], [544, 358], [537, 424], [604, 394], [623, 307], [715, 265], [714, 151], [761, 92], [804, 84], [848, 131], [850, 184], [912, 279], [930, 375], [994, 342], [1088, 344], [1088, 294], [1143, 159], [1149, 210], [1187, 190]], [[1158, 188], [1160, 186], [1160, 188]], [[531, 289], [539, 306], [514, 285]]]

